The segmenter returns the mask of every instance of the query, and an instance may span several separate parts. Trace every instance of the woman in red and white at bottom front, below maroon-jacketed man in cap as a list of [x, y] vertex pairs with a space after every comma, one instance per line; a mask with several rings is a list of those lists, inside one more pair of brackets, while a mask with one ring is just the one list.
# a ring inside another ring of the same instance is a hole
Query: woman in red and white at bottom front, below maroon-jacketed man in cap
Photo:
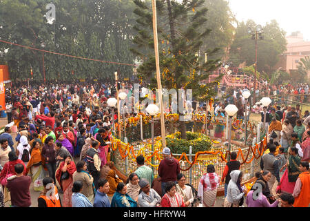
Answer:
[[174, 182], [167, 182], [165, 191], [165, 195], [161, 198], [161, 207], [186, 207], [182, 196], [176, 192]]

